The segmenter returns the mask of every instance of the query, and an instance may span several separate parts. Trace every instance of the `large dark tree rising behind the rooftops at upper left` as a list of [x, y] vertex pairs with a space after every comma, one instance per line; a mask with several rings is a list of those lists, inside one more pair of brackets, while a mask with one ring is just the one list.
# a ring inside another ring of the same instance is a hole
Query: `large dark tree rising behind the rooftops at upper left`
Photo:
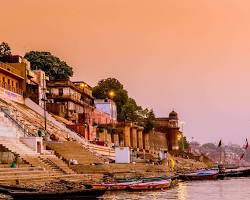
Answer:
[[72, 67], [50, 52], [30, 51], [24, 58], [30, 62], [32, 70], [43, 70], [50, 80], [68, 80], [73, 76]]

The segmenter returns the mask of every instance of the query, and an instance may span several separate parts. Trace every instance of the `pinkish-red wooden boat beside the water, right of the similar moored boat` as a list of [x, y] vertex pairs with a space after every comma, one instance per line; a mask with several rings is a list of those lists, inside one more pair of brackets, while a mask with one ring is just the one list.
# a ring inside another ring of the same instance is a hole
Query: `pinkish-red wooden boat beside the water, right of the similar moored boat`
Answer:
[[171, 180], [148, 181], [129, 185], [130, 190], [159, 190], [171, 186]]

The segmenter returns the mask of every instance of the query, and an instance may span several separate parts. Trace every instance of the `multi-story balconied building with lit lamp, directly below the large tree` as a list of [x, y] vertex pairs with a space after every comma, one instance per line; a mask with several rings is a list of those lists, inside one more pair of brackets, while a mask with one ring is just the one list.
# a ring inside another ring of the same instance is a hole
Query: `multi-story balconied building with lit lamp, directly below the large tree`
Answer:
[[47, 82], [47, 109], [74, 123], [91, 124], [94, 99], [84, 82], [53, 80]]

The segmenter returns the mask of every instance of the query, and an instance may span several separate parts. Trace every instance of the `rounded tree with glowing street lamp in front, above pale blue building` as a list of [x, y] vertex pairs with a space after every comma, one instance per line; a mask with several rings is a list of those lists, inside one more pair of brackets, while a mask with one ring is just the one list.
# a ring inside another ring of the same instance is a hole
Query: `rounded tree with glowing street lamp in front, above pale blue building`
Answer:
[[117, 106], [117, 119], [122, 121], [124, 118], [121, 116], [122, 107], [128, 101], [128, 92], [123, 88], [123, 85], [115, 78], [102, 79], [98, 82], [97, 86], [93, 88], [93, 96], [97, 99], [109, 98], [109, 92], [113, 91], [115, 94], [112, 99]]

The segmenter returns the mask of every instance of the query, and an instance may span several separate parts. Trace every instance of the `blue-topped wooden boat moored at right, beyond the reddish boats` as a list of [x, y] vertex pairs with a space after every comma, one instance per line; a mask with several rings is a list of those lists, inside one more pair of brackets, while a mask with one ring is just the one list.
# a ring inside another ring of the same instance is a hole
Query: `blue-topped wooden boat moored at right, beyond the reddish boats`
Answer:
[[193, 180], [216, 180], [220, 176], [219, 169], [199, 170], [194, 173], [180, 175], [179, 178], [186, 181]]

